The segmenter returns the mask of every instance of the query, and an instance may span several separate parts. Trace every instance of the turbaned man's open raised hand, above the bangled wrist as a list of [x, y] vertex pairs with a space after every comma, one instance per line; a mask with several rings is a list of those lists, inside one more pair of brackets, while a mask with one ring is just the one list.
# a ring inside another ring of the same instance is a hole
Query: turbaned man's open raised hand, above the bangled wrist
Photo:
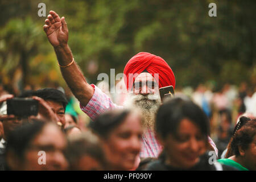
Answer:
[[49, 11], [46, 19], [46, 24], [43, 26], [47, 38], [53, 47], [65, 47], [68, 43], [68, 27], [64, 16], [60, 16], [55, 11]]

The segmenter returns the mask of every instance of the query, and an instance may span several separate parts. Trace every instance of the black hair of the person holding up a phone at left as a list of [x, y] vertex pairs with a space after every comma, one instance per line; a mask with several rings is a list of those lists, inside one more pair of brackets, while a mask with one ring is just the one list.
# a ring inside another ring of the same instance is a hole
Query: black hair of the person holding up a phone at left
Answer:
[[26, 90], [22, 94], [20, 94], [19, 97], [31, 97], [31, 96], [38, 96], [40, 98], [43, 98], [43, 100], [51, 100], [55, 102], [60, 102], [64, 110], [66, 109], [66, 106], [68, 104], [67, 98], [65, 97], [64, 93], [60, 90], [53, 89], [53, 88], [45, 88], [45, 89], [39, 89], [36, 91], [33, 90]]

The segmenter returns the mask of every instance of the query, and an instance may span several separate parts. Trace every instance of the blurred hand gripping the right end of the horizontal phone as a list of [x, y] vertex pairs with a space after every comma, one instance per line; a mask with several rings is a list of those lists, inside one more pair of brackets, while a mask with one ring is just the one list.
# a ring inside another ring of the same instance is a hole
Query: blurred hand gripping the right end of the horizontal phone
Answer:
[[49, 119], [50, 121], [58, 122], [56, 114], [53, 113], [51, 107], [40, 97], [32, 96], [32, 98], [38, 101], [38, 115], [36, 118], [38, 119]]

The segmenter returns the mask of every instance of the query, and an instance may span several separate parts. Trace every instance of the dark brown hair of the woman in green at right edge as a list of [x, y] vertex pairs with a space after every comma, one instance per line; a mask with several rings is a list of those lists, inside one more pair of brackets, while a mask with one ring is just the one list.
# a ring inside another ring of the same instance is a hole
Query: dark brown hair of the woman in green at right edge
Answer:
[[248, 121], [241, 127], [241, 129], [237, 130], [236, 134], [233, 137], [231, 142], [231, 148], [236, 156], [240, 156], [239, 146], [241, 146], [242, 150], [246, 150], [250, 143], [253, 142], [254, 136], [256, 134], [256, 119]]

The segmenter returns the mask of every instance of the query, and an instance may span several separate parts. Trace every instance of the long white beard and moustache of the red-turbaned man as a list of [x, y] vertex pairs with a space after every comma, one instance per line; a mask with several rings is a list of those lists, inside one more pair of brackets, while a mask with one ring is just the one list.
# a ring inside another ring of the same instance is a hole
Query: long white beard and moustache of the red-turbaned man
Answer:
[[142, 94], [129, 94], [123, 105], [128, 109], [137, 110], [141, 113], [144, 129], [154, 130], [155, 114], [160, 104], [161, 99], [159, 95], [148, 94], [143, 96]]

